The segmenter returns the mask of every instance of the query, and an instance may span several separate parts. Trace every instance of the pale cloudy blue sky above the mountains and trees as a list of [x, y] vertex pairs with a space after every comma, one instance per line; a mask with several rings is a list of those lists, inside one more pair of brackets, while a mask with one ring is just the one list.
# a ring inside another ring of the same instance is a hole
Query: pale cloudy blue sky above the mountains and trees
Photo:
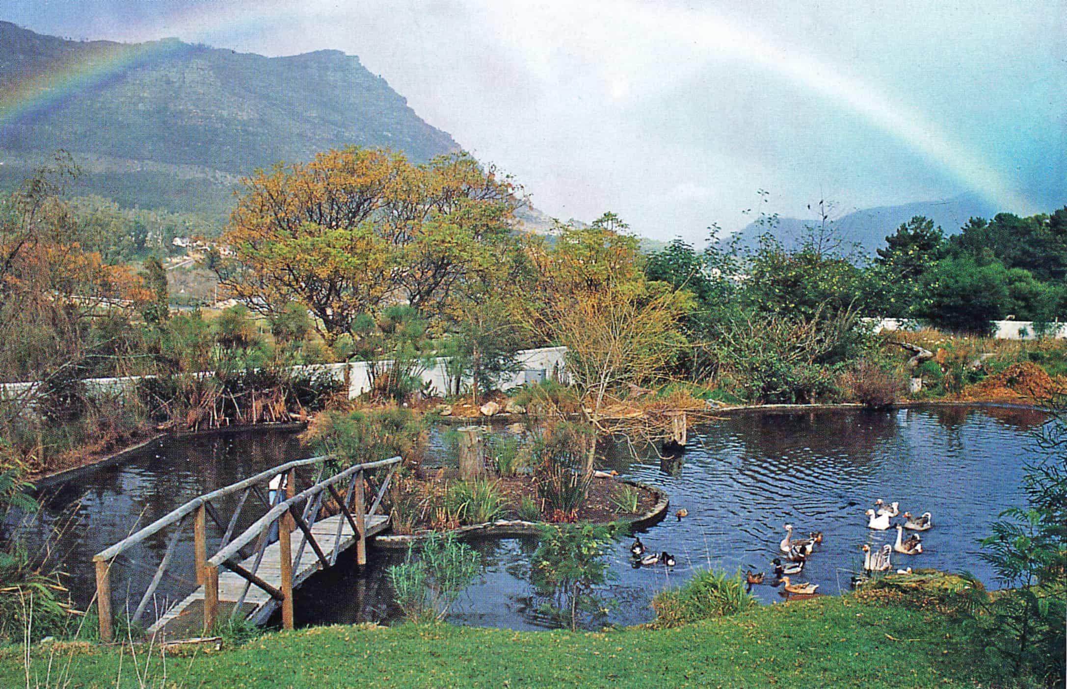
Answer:
[[0, 19], [359, 55], [541, 210], [657, 239], [819, 201], [1067, 204], [1065, 0], [4, 0]]

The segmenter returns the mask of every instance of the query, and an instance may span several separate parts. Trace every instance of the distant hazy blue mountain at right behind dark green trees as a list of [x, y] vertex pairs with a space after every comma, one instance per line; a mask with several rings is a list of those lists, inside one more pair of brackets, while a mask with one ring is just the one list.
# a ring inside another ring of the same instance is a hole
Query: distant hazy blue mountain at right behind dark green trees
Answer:
[[[971, 218], [992, 218], [1000, 209], [973, 194], [964, 194], [944, 201], [918, 202], [902, 206], [878, 206], [865, 208], [831, 219], [827, 225], [838, 233], [846, 244], [857, 243], [860, 249], [874, 254], [876, 249], [886, 245], [886, 237], [896, 233], [896, 228], [907, 223], [915, 215], [924, 215], [934, 221], [935, 226], [944, 230], [945, 237], [959, 233], [960, 228]], [[795, 249], [807, 226], [817, 226], [817, 220], [800, 220], [797, 218], [779, 218], [771, 234], [786, 247]], [[759, 223], [750, 223], [735, 235], [727, 237], [726, 242], [739, 237], [743, 246], [755, 246], [759, 237], [767, 228]]]

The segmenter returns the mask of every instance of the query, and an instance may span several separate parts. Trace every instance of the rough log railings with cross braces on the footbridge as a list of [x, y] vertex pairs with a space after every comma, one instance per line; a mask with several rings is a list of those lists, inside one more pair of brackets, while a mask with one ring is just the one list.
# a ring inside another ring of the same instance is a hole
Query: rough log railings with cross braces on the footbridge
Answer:
[[[166, 547], [163, 550], [159, 565], [156, 567], [152, 580], [142, 594], [137, 608], [130, 615], [130, 624], [136, 625], [143, 618], [163, 576], [169, 574], [169, 570], [172, 568], [171, 563], [174, 551], [181, 535], [186, 533], [190, 522], [192, 523], [193, 530], [193, 568], [195, 571], [196, 583], [205, 586], [205, 628], [213, 625], [218, 615], [220, 566], [224, 566], [245, 579], [245, 586], [240, 599], [234, 606], [233, 618], [239, 614], [249, 588], [256, 586], [282, 603], [283, 624], [287, 628], [291, 628], [292, 572], [294, 568], [299, 570], [305, 546], [310, 546], [315, 556], [319, 559], [320, 566], [332, 566], [337, 559], [344, 522], [348, 522], [352, 527], [352, 531], [357, 536], [357, 562], [361, 565], [366, 564], [366, 532], [369, 517], [376, 514], [381, 507], [382, 498], [385, 496], [389, 481], [401, 461], [399, 456], [395, 456], [379, 462], [356, 464], [323, 480], [322, 476], [329, 466], [328, 461], [334, 458], [330, 455], [321, 455], [287, 462], [232, 485], [195, 497], [165, 516], [160, 517], [156, 522], [93, 556], [96, 568], [96, 600], [99, 613], [100, 639], [108, 642], [114, 637], [111, 609], [111, 570], [116, 558], [164, 529], [170, 530]], [[298, 494], [297, 483], [300, 478], [298, 477], [297, 469], [302, 467], [317, 467], [318, 476], [310, 480], [309, 487]], [[364, 495], [366, 472], [382, 467], [388, 467], [388, 471], [378, 487], [370, 510], [367, 510]], [[345, 496], [341, 497], [336, 486], [345, 481], [348, 483]], [[267, 490], [265, 491], [265, 488]], [[330, 548], [331, 555], [329, 558], [312, 533], [312, 526], [323, 511], [328, 495], [333, 499], [331, 507], [339, 510], [345, 517], [344, 520], [338, 519], [338, 528], [334, 544]], [[233, 508], [233, 513], [228, 515], [228, 518], [224, 518], [223, 514], [220, 513], [222, 509], [220, 504], [223, 498], [229, 498], [230, 496], [237, 496], [237, 503]], [[261, 506], [260, 509], [265, 509], [266, 512], [244, 531], [235, 536], [234, 531], [237, 528], [242, 512], [245, 511], [244, 509], [250, 496], [255, 496]], [[208, 519], [211, 519], [219, 530], [222, 531], [218, 545], [211, 549], [213, 555], [209, 555], [208, 552]], [[297, 528], [303, 533], [303, 540], [298, 546], [297, 555], [293, 559], [291, 557], [291, 532]], [[262, 562], [267, 546], [275, 539], [282, 548], [281, 588], [268, 583], [258, 576], [259, 565]], [[252, 558], [253, 555], [255, 556], [255, 560], [251, 570], [243, 567], [238, 562], [241, 559]]]

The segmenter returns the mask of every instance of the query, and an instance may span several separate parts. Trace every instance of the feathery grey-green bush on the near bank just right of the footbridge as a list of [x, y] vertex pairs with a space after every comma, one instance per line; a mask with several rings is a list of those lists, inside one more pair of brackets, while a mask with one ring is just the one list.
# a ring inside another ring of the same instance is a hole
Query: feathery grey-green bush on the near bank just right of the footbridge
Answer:
[[478, 577], [481, 556], [452, 534], [431, 533], [386, 571], [397, 605], [412, 622], [441, 621]]

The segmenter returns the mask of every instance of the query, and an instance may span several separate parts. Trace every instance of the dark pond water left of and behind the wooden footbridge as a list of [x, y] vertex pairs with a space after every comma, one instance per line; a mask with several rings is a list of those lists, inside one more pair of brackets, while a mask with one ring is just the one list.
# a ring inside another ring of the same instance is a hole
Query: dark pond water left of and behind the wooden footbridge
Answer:
[[[198, 495], [301, 456], [304, 454], [292, 433], [250, 431], [165, 438], [120, 466], [101, 467], [43, 491], [41, 512], [25, 522], [21, 530], [31, 548], [38, 550], [53, 528], [60, 528], [61, 538], [51, 544], [51, 560], [69, 573], [75, 600], [85, 606], [96, 587], [95, 554]], [[236, 499], [234, 496], [235, 504]], [[219, 507], [223, 514], [233, 513], [234, 504], [220, 502]], [[18, 515], [12, 515], [5, 529], [17, 519]], [[253, 520], [245, 514], [239, 526], [245, 528]], [[127, 591], [131, 592], [130, 607], [137, 606], [162, 559], [170, 533], [164, 530], [149, 536], [112, 565], [116, 610], [125, 609], [121, 600]], [[218, 542], [222, 530], [208, 522], [208, 533]], [[160, 602], [181, 599], [195, 588], [192, 542], [192, 528], [187, 526], [169, 574], [157, 590]]]

